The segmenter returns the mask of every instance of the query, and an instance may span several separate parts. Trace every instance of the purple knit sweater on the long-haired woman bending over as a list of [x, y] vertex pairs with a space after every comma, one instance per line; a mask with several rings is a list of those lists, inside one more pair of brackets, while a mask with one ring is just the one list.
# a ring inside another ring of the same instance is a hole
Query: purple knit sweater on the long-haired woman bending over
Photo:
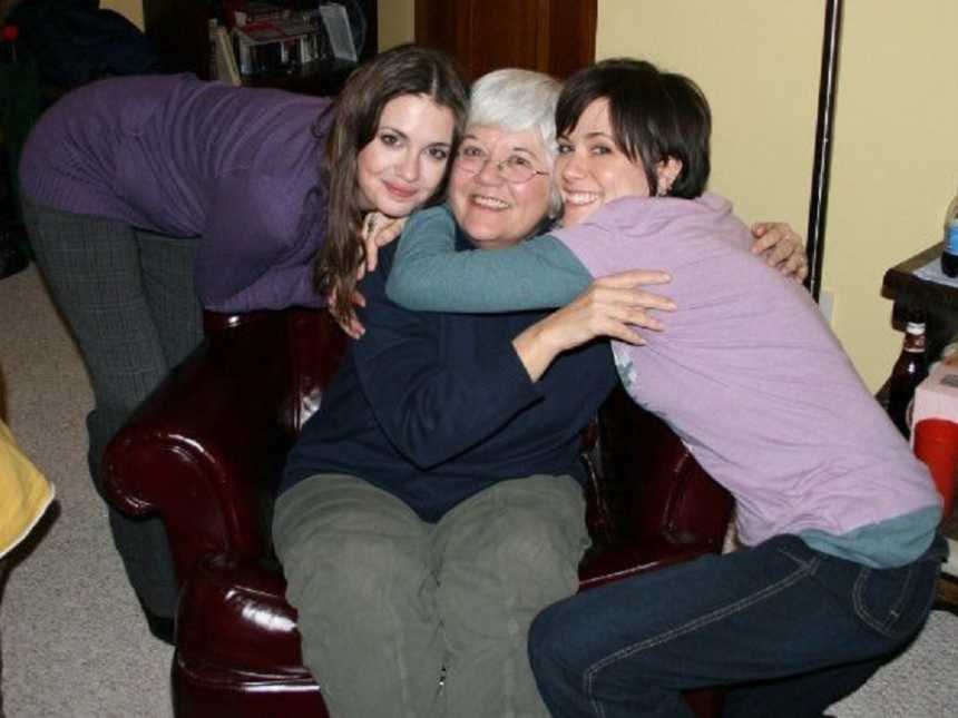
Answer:
[[207, 308], [315, 306], [329, 105], [189, 75], [95, 82], [37, 122], [20, 163], [23, 194], [199, 242], [196, 287]]

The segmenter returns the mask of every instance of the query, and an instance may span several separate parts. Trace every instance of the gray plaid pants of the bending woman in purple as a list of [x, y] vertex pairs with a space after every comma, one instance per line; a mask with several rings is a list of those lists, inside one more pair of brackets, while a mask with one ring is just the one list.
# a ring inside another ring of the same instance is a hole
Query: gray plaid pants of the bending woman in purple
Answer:
[[[193, 287], [197, 242], [29, 200], [23, 217], [37, 264], [90, 375], [88, 461], [99, 490], [110, 439], [203, 338]], [[109, 522], [139, 600], [172, 618], [177, 586], [162, 520], [131, 519], [110, 508]]]

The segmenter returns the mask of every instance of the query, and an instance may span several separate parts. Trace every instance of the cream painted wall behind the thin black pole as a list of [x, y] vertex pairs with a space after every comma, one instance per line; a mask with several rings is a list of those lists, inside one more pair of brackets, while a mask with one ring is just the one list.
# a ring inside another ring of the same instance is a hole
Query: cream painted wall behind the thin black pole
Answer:
[[[884, 271], [940, 238], [958, 185], [958, 3], [845, 0], [823, 287], [870, 388], [901, 343]], [[646, 57], [712, 102], [713, 189], [807, 232], [823, 2], [599, 0], [596, 53]]]

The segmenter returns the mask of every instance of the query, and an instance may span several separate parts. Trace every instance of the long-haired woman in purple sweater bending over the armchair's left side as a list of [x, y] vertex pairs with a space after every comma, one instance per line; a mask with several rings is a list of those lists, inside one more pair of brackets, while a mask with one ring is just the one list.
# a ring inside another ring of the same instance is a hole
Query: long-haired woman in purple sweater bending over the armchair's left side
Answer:
[[[313, 262], [328, 237], [441, 190], [466, 100], [450, 58], [405, 46], [332, 101], [180, 75], [104, 80], [46, 111], [20, 165], [25, 215], [92, 380], [95, 482], [107, 442], [202, 338], [203, 308], [321, 306]], [[162, 522], [111, 510], [110, 525], [168, 637], [177, 584]]]

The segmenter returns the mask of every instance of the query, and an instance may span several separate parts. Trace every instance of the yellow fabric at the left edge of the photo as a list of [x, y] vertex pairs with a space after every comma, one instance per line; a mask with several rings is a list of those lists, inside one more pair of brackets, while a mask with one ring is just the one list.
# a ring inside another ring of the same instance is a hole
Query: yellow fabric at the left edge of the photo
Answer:
[[0, 421], [0, 558], [30, 532], [52, 500], [53, 485]]

